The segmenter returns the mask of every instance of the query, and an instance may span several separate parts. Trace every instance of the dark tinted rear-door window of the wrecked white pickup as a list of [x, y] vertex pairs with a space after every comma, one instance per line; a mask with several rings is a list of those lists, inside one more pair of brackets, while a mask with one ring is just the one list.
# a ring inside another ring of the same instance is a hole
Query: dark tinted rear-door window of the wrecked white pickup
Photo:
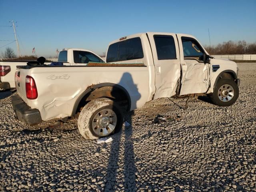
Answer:
[[154, 41], [158, 60], [177, 59], [175, 42], [172, 36], [154, 35]]

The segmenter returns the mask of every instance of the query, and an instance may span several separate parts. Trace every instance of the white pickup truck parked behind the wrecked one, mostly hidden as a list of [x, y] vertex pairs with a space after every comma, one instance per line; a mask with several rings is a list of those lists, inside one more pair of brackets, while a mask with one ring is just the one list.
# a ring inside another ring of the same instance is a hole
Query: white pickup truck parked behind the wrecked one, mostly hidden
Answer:
[[[59, 62], [63, 62], [64, 65], [81, 65], [87, 64], [90, 61], [104, 62], [104, 60], [96, 53], [86, 50], [69, 48], [60, 51]], [[15, 71], [16, 66], [24, 66], [27, 64], [26, 60], [10, 60], [0, 62], [0, 91], [15, 88]], [[51, 64], [52, 62], [45, 62], [44, 64]]]

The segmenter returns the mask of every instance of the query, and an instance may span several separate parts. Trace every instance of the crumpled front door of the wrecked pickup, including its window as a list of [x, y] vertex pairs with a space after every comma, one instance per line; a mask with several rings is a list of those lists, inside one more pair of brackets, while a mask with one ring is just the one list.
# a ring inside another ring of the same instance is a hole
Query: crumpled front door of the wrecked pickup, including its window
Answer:
[[182, 67], [179, 95], [206, 93], [210, 86], [210, 64], [204, 63], [206, 52], [192, 37], [177, 35], [180, 42], [180, 64]]

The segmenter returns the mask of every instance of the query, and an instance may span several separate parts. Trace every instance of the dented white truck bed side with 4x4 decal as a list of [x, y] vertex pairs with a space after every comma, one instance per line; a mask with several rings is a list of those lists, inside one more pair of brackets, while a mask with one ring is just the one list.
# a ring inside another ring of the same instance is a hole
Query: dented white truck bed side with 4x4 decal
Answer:
[[[151, 100], [154, 78], [144, 63], [116, 64], [90, 62], [84, 66], [17, 66], [16, 88], [22, 100], [40, 111], [42, 120], [72, 116], [80, 95], [90, 86], [119, 85], [130, 95], [134, 110]], [[26, 76], [34, 78], [38, 98], [26, 98]], [[143, 79], [143, 81], [142, 81]]]

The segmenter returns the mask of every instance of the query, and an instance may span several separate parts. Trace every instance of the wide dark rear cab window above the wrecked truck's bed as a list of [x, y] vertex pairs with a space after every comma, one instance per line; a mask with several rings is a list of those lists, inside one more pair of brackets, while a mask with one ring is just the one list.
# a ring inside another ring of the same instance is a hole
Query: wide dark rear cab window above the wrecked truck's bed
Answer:
[[108, 47], [106, 62], [118, 62], [144, 58], [139, 37], [111, 44]]

